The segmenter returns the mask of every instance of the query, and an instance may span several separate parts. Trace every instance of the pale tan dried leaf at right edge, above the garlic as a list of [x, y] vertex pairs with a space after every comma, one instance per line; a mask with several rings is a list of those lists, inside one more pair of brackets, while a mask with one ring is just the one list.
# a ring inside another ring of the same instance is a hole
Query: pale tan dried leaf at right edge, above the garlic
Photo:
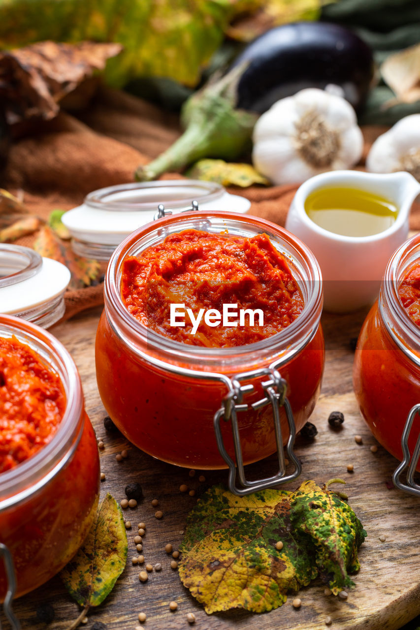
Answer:
[[380, 72], [396, 97], [385, 105], [420, 100], [420, 43], [389, 55]]

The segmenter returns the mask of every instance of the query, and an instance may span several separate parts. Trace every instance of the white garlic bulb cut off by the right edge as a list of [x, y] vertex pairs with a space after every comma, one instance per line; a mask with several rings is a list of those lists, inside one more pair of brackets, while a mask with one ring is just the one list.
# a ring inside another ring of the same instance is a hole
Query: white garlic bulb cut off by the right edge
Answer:
[[407, 171], [420, 181], [420, 114], [401, 118], [376, 138], [366, 157], [371, 173]]

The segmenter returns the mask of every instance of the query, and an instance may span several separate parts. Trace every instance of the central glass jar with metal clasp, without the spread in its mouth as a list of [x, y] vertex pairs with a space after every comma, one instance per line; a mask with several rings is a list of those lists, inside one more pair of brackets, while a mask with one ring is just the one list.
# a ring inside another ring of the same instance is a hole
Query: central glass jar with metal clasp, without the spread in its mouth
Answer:
[[[276, 335], [234, 348], [180, 343], [134, 319], [121, 298], [124, 259], [186, 229], [245, 238], [267, 234], [300, 286], [305, 306], [298, 318]], [[201, 469], [228, 464], [232, 489], [234, 458], [245, 487], [242, 463], [259, 461], [276, 449], [284, 473], [283, 444], [289, 446], [295, 427], [303, 427], [320, 390], [321, 311], [317, 261], [281, 227], [250, 215], [206, 210], [149, 223], [120, 244], [108, 265], [105, 309], [96, 334], [96, 378], [103, 404], [122, 433], [158, 459]], [[286, 390], [289, 407], [282, 406]], [[283, 437], [276, 429], [279, 407]], [[292, 427], [288, 411], [295, 418]], [[265, 487], [276, 481], [265, 480]]]

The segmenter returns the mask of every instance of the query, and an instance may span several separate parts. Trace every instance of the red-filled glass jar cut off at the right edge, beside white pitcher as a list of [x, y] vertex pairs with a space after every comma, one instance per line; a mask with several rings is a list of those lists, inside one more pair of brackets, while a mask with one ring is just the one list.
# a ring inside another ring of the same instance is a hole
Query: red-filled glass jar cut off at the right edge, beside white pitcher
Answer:
[[414, 451], [420, 433], [418, 414], [411, 417], [411, 433], [404, 432], [409, 412], [420, 404], [420, 328], [405, 311], [398, 292], [407, 270], [416, 263], [420, 265], [420, 234], [403, 243], [388, 262], [354, 357], [353, 385], [360, 411], [378, 442], [399, 460], [403, 433], [404, 457]]

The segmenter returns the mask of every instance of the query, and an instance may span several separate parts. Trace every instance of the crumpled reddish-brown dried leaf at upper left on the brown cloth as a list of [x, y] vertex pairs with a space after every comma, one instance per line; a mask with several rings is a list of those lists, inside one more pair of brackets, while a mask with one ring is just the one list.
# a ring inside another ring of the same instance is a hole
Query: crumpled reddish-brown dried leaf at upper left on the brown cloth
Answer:
[[38, 42], [0, 53], [0, 100], [14, 124], [26, 118], [54, 118], [59, 101], [107, 59], [122, 50], [118, 43]]

